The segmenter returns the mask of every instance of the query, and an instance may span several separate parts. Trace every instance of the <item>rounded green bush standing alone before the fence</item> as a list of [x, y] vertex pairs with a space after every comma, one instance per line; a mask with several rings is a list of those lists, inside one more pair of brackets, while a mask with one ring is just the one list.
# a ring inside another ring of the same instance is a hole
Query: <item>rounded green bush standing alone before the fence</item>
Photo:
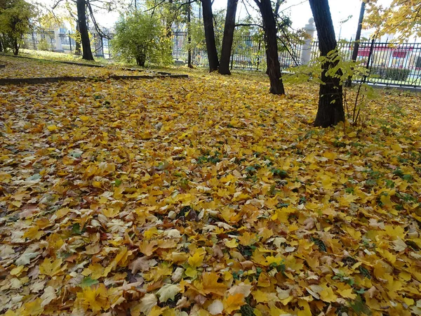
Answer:
[[171, 39], [158, 18], [136, 11], [129, 13], [116, 23], [112, 40], [114, 56], [126, 61], [135, 60], [145, 67], [145, 62], [167, 65], [173, 62]]

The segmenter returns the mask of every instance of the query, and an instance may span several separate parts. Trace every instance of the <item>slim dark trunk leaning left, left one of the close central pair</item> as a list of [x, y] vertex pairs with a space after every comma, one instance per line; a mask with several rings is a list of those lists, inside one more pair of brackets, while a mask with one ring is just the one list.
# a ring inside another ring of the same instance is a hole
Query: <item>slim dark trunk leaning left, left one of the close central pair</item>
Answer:
[[205, 28], [206, 51], [208, 51], [209, 72], [218, 70], [218, 52], [215, 44], [215, 31], [213, 29], [212, 2], [201, 0], [203, 8], [203, 25]]

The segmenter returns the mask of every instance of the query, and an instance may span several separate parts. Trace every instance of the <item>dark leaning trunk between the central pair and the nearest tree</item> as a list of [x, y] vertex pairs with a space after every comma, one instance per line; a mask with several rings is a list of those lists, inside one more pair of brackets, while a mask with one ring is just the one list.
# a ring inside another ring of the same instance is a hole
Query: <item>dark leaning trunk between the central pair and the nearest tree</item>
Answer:
[[276, 38], [276, 20], [270, 0], [255, 0], [262, 14], [263, 29], [265, 30], [267, 74], [270, 81], [270, 93], [285, 94], [281, 78], [281, 66], [278, 57], [278, 40]]

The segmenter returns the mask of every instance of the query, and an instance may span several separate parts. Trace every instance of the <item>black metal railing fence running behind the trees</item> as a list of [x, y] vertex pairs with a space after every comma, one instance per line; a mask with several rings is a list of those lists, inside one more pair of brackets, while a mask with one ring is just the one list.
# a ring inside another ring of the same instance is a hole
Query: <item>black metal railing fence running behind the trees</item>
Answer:
[[[91, 46], [95, 56], [112, 58], [112, 39], [114, 34], [107, 33], [107, 37], [91, 32]], [[109, 38], [109, 39], [108, 39]], [[188, 58], [188, 37], [185, 31], [173, 32], [173, 58], [177, 64], [186, 64]], [[59, 41], [59, 42], [57, 42]], [[34, 32], [25, 37], [25, 48], [35, 50], [62, 51], [74, 53], [76, 49], [76, 35], [67, 32], [56, 34], [53, 31]], [[373, 45], [373, 48], [371, 47]], [[343, 58], [350, 60], [354, 43], [340, 41], [338, 48]], [[302, 45], [296, 44], [279, 51], [279, 62], [282, 69], [294, 67], [301, 62]], [[370, 58], [370, 76], [368, 82], [394, 86], [421, 86], [421, 43], [388, 43], [361, 42], [357, 60]], [[312, 59], [319, 56], [318, 42], [311, 46]], [[192, 64], [207, 66], [208, 56], [205, 44], [192, 49]], [[230, 67], [241, 70], [266, 70], [265, 44], [256, 35], [234, 38]]]

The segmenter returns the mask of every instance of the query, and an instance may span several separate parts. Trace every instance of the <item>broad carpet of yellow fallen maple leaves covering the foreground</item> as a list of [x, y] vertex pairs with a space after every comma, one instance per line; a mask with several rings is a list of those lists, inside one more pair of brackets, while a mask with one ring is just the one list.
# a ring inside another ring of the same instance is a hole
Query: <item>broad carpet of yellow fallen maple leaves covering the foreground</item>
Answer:
[[0, 313], [421, 315], [421, 97], [286, 88], [0, 87]]

